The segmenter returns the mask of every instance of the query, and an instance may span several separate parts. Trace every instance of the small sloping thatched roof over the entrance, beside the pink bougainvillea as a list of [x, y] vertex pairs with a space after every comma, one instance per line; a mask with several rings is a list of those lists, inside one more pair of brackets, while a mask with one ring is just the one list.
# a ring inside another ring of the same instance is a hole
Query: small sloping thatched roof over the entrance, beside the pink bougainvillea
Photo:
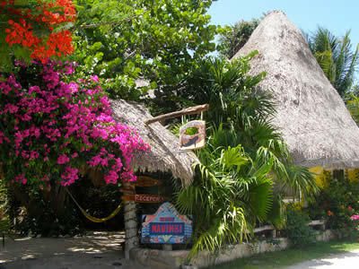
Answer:
[[138, 152], [131, 163], [132, 168], [142, 172], [171, 172], [174, 178], [180, 178], [183, 186], [188, 186], [193, 179], [191, 169], [197, 157], [193, 152], [180, 151], [179, 138], [171, 134], [159, 122], [149, 126], [144, 120], [151, 118], [150, 112], [136, 102], [111, 100], [112, 117], [119, 123], [138, 130], [141, 138], [151, 144], [151, 151]]

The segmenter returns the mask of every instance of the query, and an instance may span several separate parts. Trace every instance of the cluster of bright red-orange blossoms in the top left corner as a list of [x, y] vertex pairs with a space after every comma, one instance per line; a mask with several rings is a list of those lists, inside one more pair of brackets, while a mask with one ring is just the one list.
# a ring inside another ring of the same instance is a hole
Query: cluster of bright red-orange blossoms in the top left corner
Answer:
[[[31, 51], [31, 57], [45, 63], [50, 56], [66, 56], [73, 52], [72, 33], [67, 29], [55, 31], [60, 24], [74, 22], [76, 11], [72, 0], [38, 1], [33, 8], [15, 5], [15, 1], [0, 0], [0, 14], [8, 17], [5, 42], [18, 44]], [[29, 5], [31, 6], [31, 5]], [[49, 34], [35, 34], [39, 25]]]

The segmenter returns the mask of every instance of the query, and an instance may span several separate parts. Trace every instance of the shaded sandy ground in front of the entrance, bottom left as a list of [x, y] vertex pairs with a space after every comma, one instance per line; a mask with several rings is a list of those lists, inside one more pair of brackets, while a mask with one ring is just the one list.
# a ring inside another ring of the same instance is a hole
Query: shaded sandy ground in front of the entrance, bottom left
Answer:
[[125, 260], [121, 232], [92, 232], [75, 238], [5, 237], [0, 269], [139, 268]]

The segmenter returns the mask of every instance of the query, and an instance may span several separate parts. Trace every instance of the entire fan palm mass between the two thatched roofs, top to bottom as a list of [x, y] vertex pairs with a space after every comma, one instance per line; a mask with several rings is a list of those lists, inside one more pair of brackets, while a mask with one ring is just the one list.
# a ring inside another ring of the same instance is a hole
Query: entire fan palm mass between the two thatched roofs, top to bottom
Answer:
[[276, 181], [307, 197], [318, 189], [308, 169], [293, 165], [271, 123], [275, 104], [258, 89], [265, 74], [247, 74], [256, 53], [232, 62], [204, 60], [179, 92], [193, 103], [209, 103], [209, 137], [206, 148], [197, 151], [199, 175], [178, 194], [180, 210], [197, 220], [190, 257], [203, 248], [241, 241], [260, 222], [283, 226], [281, 197], [273, 194]]

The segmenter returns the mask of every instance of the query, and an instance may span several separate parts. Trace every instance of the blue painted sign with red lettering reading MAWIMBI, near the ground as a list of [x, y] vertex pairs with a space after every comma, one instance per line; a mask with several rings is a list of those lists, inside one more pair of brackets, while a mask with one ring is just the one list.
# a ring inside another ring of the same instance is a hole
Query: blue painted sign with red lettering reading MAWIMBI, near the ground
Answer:
[[171, 203], [154, 215], [142, 215], [142, 243], [185, 244], [192, 235], [191, 216], [180, 215]]

